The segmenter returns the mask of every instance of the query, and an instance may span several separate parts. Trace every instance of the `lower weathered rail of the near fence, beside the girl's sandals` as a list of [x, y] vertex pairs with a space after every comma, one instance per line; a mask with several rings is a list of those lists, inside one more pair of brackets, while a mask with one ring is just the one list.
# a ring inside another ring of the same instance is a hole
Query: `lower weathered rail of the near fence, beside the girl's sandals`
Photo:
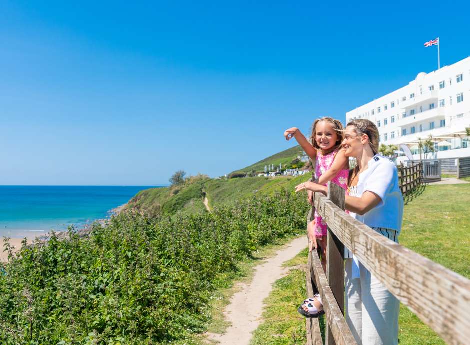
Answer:
[[357, 344], [352, 336], [351, 330], [347, 326], [344, 315], [339, 309], [336, 298], [334, 298], [333, 292], [328, 285], [328, 280], [323, 272], [323, 267], [321, 266], [321, 261], [316, 250], [311, 251], [311, 269], [315, 274], [316, 281], [318, 282], [317, 287], [321, 296], [321, 301], [323, 302], [323, 308], [336, 344]]

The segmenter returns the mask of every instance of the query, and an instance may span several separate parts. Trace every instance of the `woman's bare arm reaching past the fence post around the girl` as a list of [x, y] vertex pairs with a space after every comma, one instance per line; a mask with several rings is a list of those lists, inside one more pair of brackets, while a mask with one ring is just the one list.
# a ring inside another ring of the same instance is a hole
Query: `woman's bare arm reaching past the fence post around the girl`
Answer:
[[[328, 194], [328, 188], [324, 185], [305, 182], [295, 187], [295, 192], [308, 189], [314, 192], [320, 192], [324, 195]], [[365, 191], [361, 197], [346, 195], [346, 209], [359, 215], [363, 215], [377, 206], [382, 199], [377, 194], [371, 191]]]

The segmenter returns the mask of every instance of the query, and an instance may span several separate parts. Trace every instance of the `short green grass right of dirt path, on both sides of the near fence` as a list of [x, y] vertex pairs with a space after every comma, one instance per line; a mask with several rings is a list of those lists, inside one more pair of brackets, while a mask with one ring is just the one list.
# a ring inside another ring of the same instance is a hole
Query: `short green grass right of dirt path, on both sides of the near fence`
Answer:
[[[470, 278], [469, 208], [470, 184], [427, 186], [404, 208], [400, 243]], [[289, 265], [306, 263], [306, 257], [302, 252]], [[263, 313], [265, 321], [256, 330], [253, 345], [305, 343], [305, 322], [296, 311], [304, 290], [304, 273], [298, 269], [275, 283]], [[445, 344], [403, 305], [399, 326], [400, 344]]]

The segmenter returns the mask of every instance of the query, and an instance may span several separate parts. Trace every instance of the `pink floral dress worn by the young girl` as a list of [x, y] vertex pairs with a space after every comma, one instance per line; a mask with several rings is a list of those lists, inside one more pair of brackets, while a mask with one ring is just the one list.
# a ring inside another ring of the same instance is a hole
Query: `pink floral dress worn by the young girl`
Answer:
[[[316, 154], [316, 165], [315, 165], [315, 179], [320, 178], [322, 174], [329, 170], [333, 164], [334, 157], [338, 153], [338, 150], [332, 151], [328, 154], [322, 155], [318, 150]], [[349, 177], [349, 170], [342, 169], [338, 174], [331, 180], [332, 183], [339, 185], [347, 192], [347, 179]], [[326, 184], [325, 184], [326, 185]], [[328, 226], [326, 225], [323, 218], [315, 210], [315, 236], [321, 237], [326, 236]]]

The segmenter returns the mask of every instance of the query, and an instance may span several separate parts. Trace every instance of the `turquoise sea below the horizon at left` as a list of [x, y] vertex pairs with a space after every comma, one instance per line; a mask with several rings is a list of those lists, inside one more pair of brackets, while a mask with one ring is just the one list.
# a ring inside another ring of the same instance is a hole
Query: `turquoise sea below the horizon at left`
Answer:
[[0, 236], [36, 237], [110, 215], [150, 186], [0, 186]]

